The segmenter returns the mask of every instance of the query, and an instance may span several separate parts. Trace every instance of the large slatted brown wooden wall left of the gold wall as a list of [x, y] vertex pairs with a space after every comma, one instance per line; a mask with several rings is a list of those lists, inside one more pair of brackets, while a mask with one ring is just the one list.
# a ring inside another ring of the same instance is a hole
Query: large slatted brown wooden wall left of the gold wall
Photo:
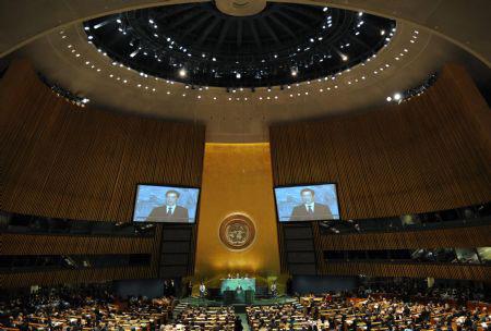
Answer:
[[2, 210], [128, 222], [136, 183], [201, 185], [202, 125], [76, 107], [23, 61], [0, 99]]

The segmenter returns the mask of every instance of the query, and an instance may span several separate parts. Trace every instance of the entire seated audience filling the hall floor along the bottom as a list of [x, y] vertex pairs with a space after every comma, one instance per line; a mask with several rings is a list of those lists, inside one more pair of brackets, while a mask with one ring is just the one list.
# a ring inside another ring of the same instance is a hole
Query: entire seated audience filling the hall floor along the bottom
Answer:
[[[0, 330], [243, 330], [231, 306], [178, 310], [177, 302], [171, 295], [122, 299], [100, 286], [50, 289], [0, 302]], [[249, 306], [247, 322], [253, 331], [486, 331], [491, 330], [488, 303], [486, 294], [469, 289], [359, 287]]]

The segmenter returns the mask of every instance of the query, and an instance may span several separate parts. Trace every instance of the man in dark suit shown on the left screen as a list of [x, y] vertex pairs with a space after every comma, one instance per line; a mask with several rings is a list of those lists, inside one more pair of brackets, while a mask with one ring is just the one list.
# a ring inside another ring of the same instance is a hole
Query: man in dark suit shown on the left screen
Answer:
[[179, 192], [169, 189], [166, 192], [166, 205], [155, 207], [146, 218], [147, 222], [177, 222], [189, 223], [188, 209], [177, 205]]

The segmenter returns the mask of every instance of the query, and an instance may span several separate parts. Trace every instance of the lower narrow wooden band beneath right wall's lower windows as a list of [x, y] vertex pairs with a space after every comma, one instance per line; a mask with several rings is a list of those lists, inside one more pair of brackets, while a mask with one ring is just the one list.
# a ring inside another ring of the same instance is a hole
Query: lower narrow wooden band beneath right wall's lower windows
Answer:
[[323, 274], [371, 277], [409, 277], [435, 279], [460, 279], [487, 281], [491, 279], [491, 267], [478, 265], [418, 265], [383, 262], [330, 262], [321, 270]]

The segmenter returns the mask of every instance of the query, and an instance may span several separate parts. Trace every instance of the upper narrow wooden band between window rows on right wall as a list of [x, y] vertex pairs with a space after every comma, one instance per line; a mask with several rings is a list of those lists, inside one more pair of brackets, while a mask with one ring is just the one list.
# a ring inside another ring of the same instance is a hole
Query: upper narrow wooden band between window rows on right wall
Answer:
[[319, 242], [319, 249], [322, 250], [472, 248], [491, 246], [491, 225], [388, 233], [316, 234], [314, 240]]

